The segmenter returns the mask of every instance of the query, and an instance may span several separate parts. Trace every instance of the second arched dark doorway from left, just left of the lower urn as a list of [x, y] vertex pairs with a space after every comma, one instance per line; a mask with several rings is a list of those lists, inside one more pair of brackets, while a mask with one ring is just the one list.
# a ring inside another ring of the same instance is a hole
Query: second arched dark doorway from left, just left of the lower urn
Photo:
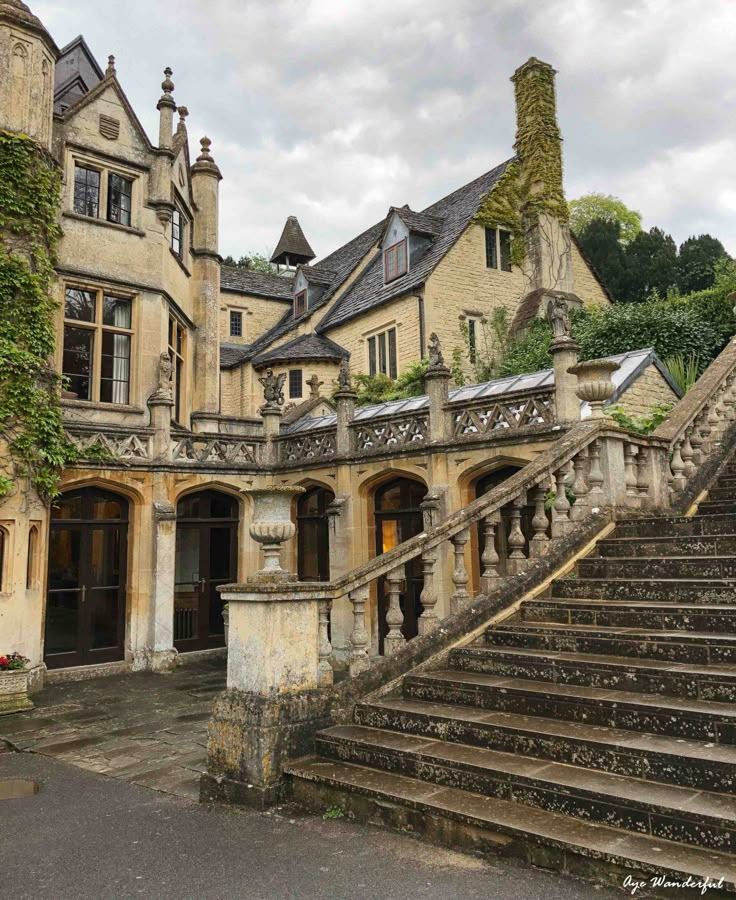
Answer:
[[176, 510], [174, 646], [179, 652], [225, 646], [217, 588], [238, 577], [238, 502], [220, 491], [183, 497]]

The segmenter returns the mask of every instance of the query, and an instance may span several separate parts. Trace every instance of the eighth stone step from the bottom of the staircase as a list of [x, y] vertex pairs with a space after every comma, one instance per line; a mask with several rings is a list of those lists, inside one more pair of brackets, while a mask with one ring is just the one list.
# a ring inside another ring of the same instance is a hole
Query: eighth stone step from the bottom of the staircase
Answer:
[[736, 581], [698, 578], [560, 578], [552, 582], [556, 600], [639, 600], [649, 603], [730, 604]]

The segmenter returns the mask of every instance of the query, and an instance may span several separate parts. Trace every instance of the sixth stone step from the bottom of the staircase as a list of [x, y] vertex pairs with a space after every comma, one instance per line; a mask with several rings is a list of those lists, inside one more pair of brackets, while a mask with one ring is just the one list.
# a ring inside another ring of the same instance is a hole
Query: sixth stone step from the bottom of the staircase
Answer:
[[485, 639], [496, 647], [597, 653], [692, 665], [736, 664], [736, 637], [702, 632], [513, 623], [494, 626], [486, 632]]

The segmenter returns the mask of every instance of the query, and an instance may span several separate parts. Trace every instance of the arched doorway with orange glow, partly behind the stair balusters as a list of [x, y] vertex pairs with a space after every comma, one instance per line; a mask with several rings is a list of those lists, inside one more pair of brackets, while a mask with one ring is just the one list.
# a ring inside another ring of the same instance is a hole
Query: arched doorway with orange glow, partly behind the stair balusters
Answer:
[[[376, 555], [393, 550], [398, 544], [421, 534], [422, 511], [419, 504], [424, 499], [427, 488], [410, 478], [395, 478], [381, 485], [375, 493]], [[421, 558], [411, 560], [404, 572], [404, 589], [400, 604], [404, 614], [401, 633], [411, 640], [419, 633], [418, 620], [422, 612], [419, 596], [422, 593]], [[388, 594], [385, 579], [378, 582], [378, 649], [383, 653], [383, 639], [388, 633], [386, 611]]]

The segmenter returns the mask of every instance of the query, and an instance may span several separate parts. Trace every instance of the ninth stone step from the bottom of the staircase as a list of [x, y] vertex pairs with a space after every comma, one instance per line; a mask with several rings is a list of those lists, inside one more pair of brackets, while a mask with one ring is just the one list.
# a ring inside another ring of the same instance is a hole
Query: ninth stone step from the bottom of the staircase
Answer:
[[736, 556], [588, 557], [578, 562], [577, 570], [580, 578], [727, 580], [736, 578]]

